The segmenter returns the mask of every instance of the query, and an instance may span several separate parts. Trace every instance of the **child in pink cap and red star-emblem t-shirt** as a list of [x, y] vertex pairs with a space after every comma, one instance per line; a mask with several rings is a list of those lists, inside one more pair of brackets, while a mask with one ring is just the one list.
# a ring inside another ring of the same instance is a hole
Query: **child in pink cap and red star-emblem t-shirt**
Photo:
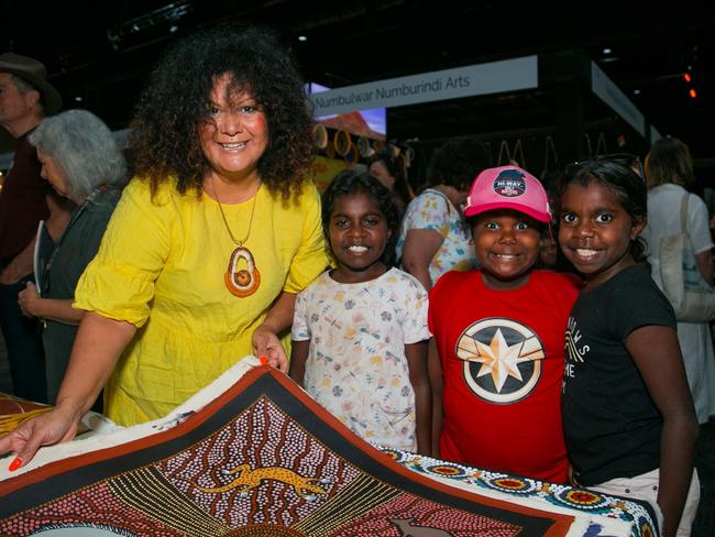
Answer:
[[433, 454], [563, 483], [564, 333], [579, 283], [534, 268], [547, 193], [519, 167], [488, 168], [464, 216], [480, 270], [450, 272], [429, 295]]

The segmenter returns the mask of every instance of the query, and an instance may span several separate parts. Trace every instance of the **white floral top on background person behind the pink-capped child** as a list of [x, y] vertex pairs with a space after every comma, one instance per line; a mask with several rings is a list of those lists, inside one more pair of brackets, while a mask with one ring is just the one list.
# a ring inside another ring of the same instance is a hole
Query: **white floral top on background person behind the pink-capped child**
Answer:
[[443, 194], [428, 188], [409, 202], [397, 239], [398, 260], [403, 256], [405, 238], [410, 229], [433, 229], [444, 238], [429, 264], [432, 285], [448, 271], [476, 268], [470, 232], [464, 229], [459, 210]]

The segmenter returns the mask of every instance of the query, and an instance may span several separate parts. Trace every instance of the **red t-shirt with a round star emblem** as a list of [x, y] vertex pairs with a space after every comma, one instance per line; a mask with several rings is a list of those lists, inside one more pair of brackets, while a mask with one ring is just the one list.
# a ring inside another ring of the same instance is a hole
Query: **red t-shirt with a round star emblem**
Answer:
[[480, 271], [450, 272], [429, 295], [441, 357], [440, 457], [563, 483], [564, 336], [579, 294], [573, 275], [532, 271], [496, 291]]

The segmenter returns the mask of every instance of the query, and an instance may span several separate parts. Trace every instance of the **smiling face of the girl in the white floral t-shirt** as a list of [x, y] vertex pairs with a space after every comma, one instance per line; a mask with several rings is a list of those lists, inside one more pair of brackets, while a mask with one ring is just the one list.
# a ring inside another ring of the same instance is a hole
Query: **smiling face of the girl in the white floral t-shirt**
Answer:
[[385, 215], [369, 194], [359, 191], [336, 198], [328, 232], [338, 261], [336, 280], [367, 282], [385, 272], [381, 257], [391, 231]]

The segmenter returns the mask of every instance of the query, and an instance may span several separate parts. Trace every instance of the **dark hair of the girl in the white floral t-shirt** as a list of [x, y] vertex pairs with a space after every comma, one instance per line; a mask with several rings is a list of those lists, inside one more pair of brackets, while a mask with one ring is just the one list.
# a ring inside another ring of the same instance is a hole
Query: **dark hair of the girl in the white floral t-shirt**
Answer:
[[[399, 209], [395, 204], [395, 197], [387, 187], [367, 172], [351, 168], [343, 169], [336, 175], [326, 191], [322, 193], [322, 232], [328, 244], [330, 244], [330, 216], [336, 207], [336, 200], [341, 196], [351, 196], [358, 193], [364, 193], [375, 201], [387, 221], [388, 230], [397, 229], [399, 226]], [[381, 261], [387, 266], [394, 266], [395, 264], [396, 242], [397, 233], [393, 231], [381, 256]]]

